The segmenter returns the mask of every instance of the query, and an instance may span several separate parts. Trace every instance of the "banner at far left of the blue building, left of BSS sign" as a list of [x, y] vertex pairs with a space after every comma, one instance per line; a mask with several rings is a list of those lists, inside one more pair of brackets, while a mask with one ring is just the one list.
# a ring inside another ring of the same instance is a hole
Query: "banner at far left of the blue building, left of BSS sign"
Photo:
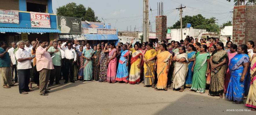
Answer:
[[0, 10], [0, 23], [19, 24], [19, 11]]

